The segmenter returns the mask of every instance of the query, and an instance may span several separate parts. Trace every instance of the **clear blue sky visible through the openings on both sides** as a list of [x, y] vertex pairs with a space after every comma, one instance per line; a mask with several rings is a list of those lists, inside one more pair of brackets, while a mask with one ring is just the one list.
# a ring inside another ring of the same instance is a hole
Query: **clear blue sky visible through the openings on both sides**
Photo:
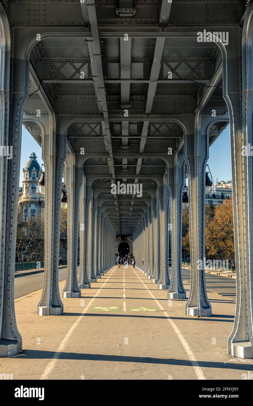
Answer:
[[[29, 155], [31, 152], [36, 153], [37, 161], [41, 165], [43, 163], [41, 158], [41, 147], [23, 126], [19, 186], [22, 186], [22, 171], [29, 160]], [[217, 177], [218, 181], [228, 181], [231, 179], [229, 126], [227, 126], [227, 128], [221, 133], [220, 136], [218, 136], [217, 140], [209, 148], [208, 165], [210, 166], [214, 183], [216, 183]]]

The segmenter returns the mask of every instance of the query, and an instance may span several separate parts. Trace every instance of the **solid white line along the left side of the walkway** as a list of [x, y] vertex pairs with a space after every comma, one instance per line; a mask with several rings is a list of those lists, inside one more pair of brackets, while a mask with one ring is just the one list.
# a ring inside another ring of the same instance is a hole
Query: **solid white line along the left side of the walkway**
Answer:
[[69, 331], [67, 332], [67, 334], [65, 335], [63, 341], [61, 342], [61, 344], [59, 345], [59, 347], [57, 348], [57, 351], [54, 353], [52, 359], [49, 361], [48, 366], [45, 368], [45, 371], [43, 372], [43, 374], [41, 375], [41, 377], [39, 379], [43, 380], [43, 379], [48, 379], [49, 375], [51, 374], [58, 358], [61, 356], [61, 353], [63, 352], [65, 346], [67, 345], [67, 342], [69, 341], [71, 335], [74, 333], [74, 330], [76, 329], [76, 327], [78, 326], [78, 324], [80, 323], [80, 321], [82, 320], [82, 317], [84, 316], [84, 314], [86, 313], [86, 311], [89, 309], [89, 307], [91, 306], [91, 304], [93, 303], [93, 301], [95, 300], [95, 298], [99, 295], [99, 293], [101, 292], [101, 290], [103, 289], [104, 285], [108, 282], [108, 280], [110, 279], [110, 277], [112, 276], [113, 272], [115, 271], [115, 269], [112, 271], [112, 273], [110, 274], [110, 276], [108, 276], [108, 278], [106, 279], [106, 281], [103, 283], [103, 285], [100, 287], [100, 289], [97, 291], [97, 293], [94, 295], [94, 297], [90, 300], [89, 304], [85, 307], [85, 309], [82, 311], [82, 313], [80, 314], [80, 316], [78, 317], [78, 319], [74, 322], [73, 326], [69, 329]]

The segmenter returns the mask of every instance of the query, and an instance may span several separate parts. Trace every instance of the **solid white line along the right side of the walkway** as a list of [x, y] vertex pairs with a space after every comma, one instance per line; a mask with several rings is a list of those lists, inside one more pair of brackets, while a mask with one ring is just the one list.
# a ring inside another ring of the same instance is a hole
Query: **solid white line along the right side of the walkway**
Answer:
[[[135, 272], [135, 271], [134, 271]], [[140, 279], [141, 283], [143, 283], [143, 285], [145, 286], [145, 288], [147, 289], [147, 291], [149, 292], [150, 296], [152, 299], [154, 299], [154, 301], [156, 302], [156, 304], [158, 305], [158, 307], [160, 308], [160, 310], [163, 311], [164, 316], [167, 318], [168, 322], [171, 324], [171, 326], [173, 327], [173, 330], [175, 331], [177, 337], [179, 338], [179, 340], [181, 341], [184, 349], [187, 352], [187, 355], [190, 359], [190, 362], [192, 363], [192, 366], [195, 370], [195, 373], [197, 375], [197, 378], [199, 380], [205, 380], [205, 375], [203, 374], [203, 371], [201, 369], [201, 367], [199, 366], [199, 363], [197, 361], [197, 358], [195, 358], [195, 355], [193, 354], [192, 350], [190, 349], [189, 344], [187, 343], [186, 339], [184, 338], [184, 336], [182, 335], [182, 333], [180, 332], [179, 328], [177, 328], [176, 324], [173, 322], [173, 320], [171, 320], [171, 318], [169, 317], [168, 313], [166, 311], [164, 311], [164, 308], [162, 307], [162, 305], [158, 302], [158, 300], [156, 300], [155, 296], [152, 294], [152, 292], [150, 292], [150, 290], [147, 288], [147, 286], [145, 285], [145, 283], [142, 281], [142, 279], [139, 277], [139, 275], [135, 272], [135, 274], [138, 276], [138, 278]]]

